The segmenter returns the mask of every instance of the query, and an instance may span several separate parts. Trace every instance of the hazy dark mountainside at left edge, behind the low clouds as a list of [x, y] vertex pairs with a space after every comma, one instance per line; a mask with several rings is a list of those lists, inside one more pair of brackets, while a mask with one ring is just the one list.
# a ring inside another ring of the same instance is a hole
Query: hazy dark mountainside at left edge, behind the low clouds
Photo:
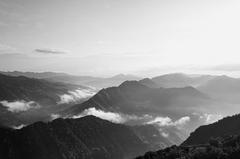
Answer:
[[60, 100], [59, 95], [79, 88], [86, 87], [0, 74], [0, 100], [26, 100], [50, 105], [56, 104]]

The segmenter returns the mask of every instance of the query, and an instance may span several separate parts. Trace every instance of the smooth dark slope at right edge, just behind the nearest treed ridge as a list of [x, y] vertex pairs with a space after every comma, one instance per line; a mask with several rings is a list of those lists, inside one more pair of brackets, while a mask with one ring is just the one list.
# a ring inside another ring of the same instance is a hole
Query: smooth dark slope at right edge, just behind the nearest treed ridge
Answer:
[[182, 145], [204, 144], [211, 138], [240, 135], [240, 115], [226, 117], [210, 125], [200, 126]]

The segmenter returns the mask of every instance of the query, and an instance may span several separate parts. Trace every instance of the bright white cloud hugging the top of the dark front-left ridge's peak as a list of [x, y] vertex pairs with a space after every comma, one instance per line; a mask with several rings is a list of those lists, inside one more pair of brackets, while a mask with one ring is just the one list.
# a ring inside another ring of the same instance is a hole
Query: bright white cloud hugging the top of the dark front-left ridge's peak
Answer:
[[73, 116], [72, 118], [76, 119], [76, 118], [81, 118], [87, 115], [94, 115], [96, 117], [111, 121], [113, 123], [126, 122], [126, 119], [121, 114], [114, 113], [114, 112], [105, 112], [96, 108], [85, 109], [81, 114]]

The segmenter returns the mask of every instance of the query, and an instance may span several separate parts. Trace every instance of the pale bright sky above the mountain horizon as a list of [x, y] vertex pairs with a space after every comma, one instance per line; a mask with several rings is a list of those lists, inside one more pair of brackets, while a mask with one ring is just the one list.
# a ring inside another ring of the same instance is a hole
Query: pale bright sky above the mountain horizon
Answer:
[[0, 70], [240, 75], [239, 0], [0, 0]]

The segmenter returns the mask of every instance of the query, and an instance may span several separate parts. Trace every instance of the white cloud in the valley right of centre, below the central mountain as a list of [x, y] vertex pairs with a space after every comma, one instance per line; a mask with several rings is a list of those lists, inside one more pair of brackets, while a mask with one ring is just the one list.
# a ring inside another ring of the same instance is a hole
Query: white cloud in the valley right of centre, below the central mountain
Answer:
[[189, 121], [190, 121], [189, 116], [184, 116], [176, 121], [172, 121], [172, 119], [169, 117], [156, 117], [155, 119], [148, 121], [147, 124], [157, 124], [161, 127], [164, 127], [164, 126], [179, 127], [179, 126], [185, 125]]

